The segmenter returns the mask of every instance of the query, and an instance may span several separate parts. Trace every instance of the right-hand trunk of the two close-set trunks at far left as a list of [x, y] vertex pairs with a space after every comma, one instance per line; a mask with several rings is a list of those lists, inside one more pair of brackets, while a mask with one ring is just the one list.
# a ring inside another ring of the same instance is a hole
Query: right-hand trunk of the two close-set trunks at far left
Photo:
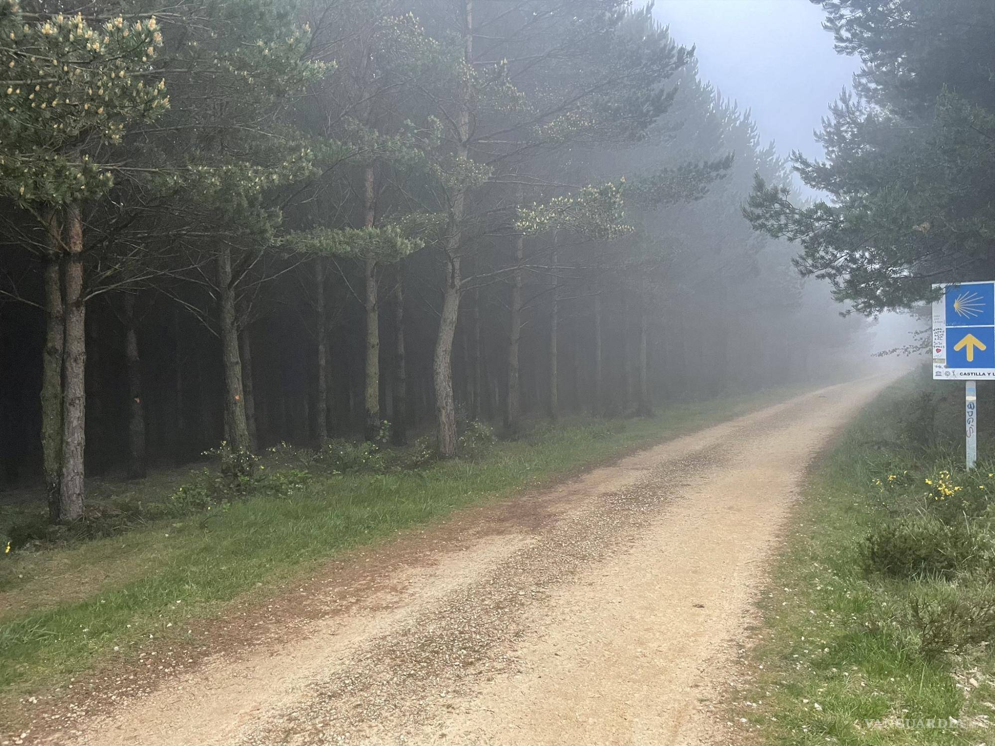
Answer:
[[59, 520], [70, 522], [83, 517], [84, 464], [87, 445], [87, 307], [83, 295], [83, 216], [78, 204], [66, 208], [68, 255], [66, 257], [65, 319], [63, 357], [63, 452]]

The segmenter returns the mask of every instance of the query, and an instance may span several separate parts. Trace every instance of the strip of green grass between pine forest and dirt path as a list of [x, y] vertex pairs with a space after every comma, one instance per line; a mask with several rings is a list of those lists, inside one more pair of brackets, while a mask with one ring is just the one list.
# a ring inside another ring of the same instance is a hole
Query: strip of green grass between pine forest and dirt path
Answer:
[[[176, 635], [233, 599], [272, 594], [328, 558], [728, 419], [787, 393], [690, 403], [655, 418], [565, 421], [499, 443], [477, 463], [314, 476], [285, 498], [250, 498], [109, 538], [0, 555], [0, 710], [93, 668], [115, 648]], [[165, 480], [167, 489], [174, 479]], [[159, 482], [147, 482], [150, 499]], [[140, 490], [125, 487], [136, 497]], [[8, 519], [10, 517], [8, 511]]]

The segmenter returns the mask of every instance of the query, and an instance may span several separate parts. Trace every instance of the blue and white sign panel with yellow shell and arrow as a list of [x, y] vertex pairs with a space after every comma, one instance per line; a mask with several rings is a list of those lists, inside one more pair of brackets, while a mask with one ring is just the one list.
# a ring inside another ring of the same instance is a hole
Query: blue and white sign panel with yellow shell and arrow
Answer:
[[995, 378], [995, 282], [933, 287], [933, 378]]

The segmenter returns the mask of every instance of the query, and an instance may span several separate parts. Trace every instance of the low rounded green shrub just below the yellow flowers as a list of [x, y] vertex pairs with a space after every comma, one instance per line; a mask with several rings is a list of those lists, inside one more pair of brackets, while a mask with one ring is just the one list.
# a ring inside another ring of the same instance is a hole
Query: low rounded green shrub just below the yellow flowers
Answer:
[[914, 515], [876, 527], [865, 540], [863, 554], [869, 570], [891, 577], [952, 578], [989, 566], [992, 550], [992, 538], [982, 526]]

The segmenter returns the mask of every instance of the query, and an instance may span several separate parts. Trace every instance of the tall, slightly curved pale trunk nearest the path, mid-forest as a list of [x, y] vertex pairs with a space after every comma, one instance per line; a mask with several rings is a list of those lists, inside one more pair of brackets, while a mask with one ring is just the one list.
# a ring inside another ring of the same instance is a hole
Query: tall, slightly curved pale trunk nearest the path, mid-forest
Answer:
[[[464, 59], [473, 63], [474, 56], [474, 3], [464, 0]], [[457, 157], [470, 155], [470, 84], [461, 84], [460, 112], [458, 114], [459, 143]], [[446, 286], [443, 291], [442, 314], [439, 319], [439, 336], [436, 339], [432, 360], [432, 377], [436, 394], [436, 421], [438, 426], [439, 456], [450, 459], [456, 456], [456, 403], [453, 401], [453, 336], [460, 315], [460, 295], [463, 277], [460, 271], [460, 245], [463, 243], [463, 218], [466, 209], [467, 188], [459, 187], [450, 206], [449, 230], [446, 240]]]

